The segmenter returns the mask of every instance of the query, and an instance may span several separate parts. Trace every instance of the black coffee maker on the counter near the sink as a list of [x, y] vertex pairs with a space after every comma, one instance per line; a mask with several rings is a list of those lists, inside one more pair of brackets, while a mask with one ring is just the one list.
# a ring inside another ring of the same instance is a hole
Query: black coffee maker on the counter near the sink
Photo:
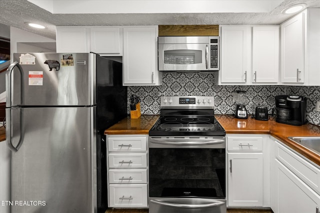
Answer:
[[282, 124], [301, 126], [306, 122], [306, 99], [297, 95], [275, 96], [275, 108], [272, 115]]

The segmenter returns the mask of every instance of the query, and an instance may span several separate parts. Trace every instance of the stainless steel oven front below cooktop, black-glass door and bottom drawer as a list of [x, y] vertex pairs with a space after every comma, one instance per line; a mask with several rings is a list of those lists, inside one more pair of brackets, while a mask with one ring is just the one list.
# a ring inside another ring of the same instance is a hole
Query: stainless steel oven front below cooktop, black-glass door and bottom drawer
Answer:
[[225, 213], [225, 138], [149, 137], [150, 213]]

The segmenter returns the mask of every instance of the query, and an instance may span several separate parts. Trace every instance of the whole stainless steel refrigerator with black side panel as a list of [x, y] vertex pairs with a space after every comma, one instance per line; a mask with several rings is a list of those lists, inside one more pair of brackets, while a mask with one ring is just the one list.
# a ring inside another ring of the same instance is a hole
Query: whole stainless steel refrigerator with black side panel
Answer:
[[103, 130], [127, 108], [121, 63], [93, 53], [14, 53], [13, 61], [6, 71], [11, 213], [103, 212]]

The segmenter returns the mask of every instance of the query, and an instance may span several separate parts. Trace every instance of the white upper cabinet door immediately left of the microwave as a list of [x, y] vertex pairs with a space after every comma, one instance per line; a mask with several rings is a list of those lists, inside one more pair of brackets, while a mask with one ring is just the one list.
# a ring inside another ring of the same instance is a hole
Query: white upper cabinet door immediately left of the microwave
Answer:
[[123, 28], [123, 85], [157, 85], [157, 28]]

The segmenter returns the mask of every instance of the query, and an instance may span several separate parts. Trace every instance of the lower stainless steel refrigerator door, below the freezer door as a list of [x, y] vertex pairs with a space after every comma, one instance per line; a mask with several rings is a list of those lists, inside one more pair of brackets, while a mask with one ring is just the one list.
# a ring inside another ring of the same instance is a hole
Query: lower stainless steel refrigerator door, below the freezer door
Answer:
[[11, 213], [95, 212], [95, 107], [10, 110]]

